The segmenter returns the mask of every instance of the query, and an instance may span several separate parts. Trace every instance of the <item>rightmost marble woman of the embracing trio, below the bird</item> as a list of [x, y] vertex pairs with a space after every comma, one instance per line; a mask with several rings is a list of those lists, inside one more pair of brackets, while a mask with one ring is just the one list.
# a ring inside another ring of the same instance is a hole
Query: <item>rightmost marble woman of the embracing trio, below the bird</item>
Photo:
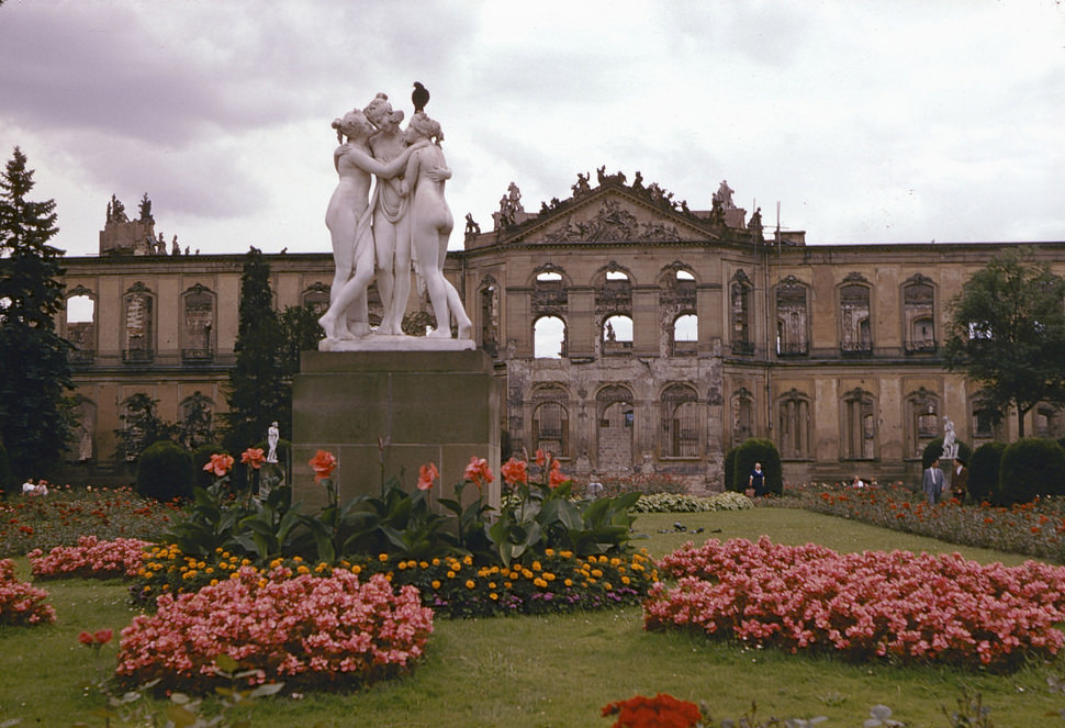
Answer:
[[405, 138], [410, 144], [431, 141], [434, 144], [419, 147], [407, 161], [403, 181], [400, 183], [404, 195], [411, 198], [411, 243], [414, 249], [415, 266], [425, 282], [436, 316], [436, 331], [429, 336], [451, 338], [451, 318], [458, 326], [460, 339], [473, 337], [473, 324], [462, 307], [459, 292], [444, 277], [444, 260], [447, 257], [448, 238], [455, 220], [451, 209], [444, 198], [444, 186], [450, 179], [440, 148], [444, 133], [440, 124], [425, 113], [414, 114], [407, 125]]

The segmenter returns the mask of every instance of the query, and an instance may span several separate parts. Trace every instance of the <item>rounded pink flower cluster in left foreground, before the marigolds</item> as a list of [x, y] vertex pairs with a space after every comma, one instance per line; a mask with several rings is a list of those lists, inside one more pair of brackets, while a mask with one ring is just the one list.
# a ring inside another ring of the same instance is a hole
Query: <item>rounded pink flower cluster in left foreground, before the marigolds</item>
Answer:
[[340, 570], [293, 579], [283, 567], [267, 576], [245, 567], [157, 604], [122, 630], [120, 679], [202, 690], [227, 654], [257, 671], [254, 683], [365, 684], [411, 670], [433, 631], [433, 611], [413, 586], [393, 594], [383, 575], [360, 583]]

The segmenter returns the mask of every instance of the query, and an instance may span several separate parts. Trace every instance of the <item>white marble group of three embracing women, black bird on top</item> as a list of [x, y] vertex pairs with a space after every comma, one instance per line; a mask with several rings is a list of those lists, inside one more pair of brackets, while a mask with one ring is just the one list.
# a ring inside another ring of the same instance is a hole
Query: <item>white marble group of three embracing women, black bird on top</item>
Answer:
[[[393, 111], [384, 93], [333, 122], [340, 144], [333, 160], [340, 179], [325, 214], [336, 272], [329, 309], [318, 320], [326, 335], [323, 345], [371, 334], [403, 336], [412, 265], [436, 317], [428, 336], [451, 338], [453, 322], [460, 339], [472, 338], [459, 293], [444, 277], [455, 224], [444, 198], [451, 177], [440, 148], [444, 134], [422, 108], [428, 93], [421, 85], [416, 88], [415, 113], [405, 130], [400, 127], [403, 112]], [[371, 175], [378, 178], [372, 195]], [[367, 310], [367, 290], [374, 277], [384, 307], [375, 331]]]

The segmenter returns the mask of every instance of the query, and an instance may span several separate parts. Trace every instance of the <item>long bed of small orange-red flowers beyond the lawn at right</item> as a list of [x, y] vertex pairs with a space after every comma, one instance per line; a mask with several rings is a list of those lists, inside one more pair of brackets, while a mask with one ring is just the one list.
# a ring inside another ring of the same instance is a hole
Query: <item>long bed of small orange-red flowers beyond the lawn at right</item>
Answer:
[[867, 490], [806, 488], [796, 493], [798, 504], [816, 513], [853, 518], [951, 544], [1065, 563], [1065, 502], [1060, 499], [1036, 499], [1002, 508], [987, 503], [962, 505], [957, 501], [931, 506], [921, 493], [895, 486]]

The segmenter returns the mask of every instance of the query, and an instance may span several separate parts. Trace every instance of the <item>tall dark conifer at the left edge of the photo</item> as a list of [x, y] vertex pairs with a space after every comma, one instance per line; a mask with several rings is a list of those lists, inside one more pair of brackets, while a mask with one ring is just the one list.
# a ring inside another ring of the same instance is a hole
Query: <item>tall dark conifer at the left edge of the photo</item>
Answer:
[[48, 245], [59, 232], [55, 201], [29, 201], [33, 186], [15, 147], [0, 177], [0, 440], [20, 478], [59, 461], [72, 418], [71, 346], [55, 326], [63, 250]]

